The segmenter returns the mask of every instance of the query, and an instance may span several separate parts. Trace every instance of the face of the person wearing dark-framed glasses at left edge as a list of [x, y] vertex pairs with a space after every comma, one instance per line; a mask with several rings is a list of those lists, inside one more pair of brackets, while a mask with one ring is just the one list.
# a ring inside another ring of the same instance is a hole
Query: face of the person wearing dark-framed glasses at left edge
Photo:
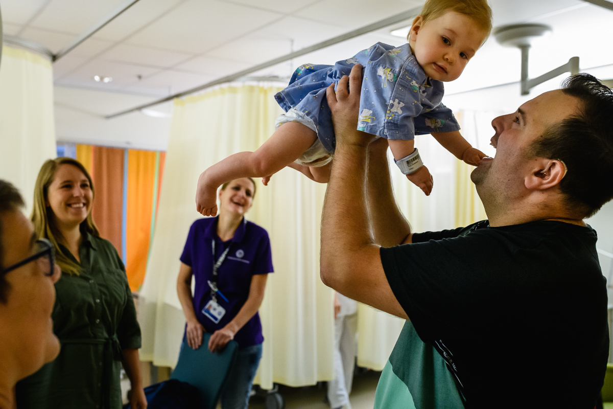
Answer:
[[[19, 210], [0, 213], [2, 218], [3, 268], [17, 264], [34, 254], [34, 229]], [[12, 365], [20, 376], [36, 372], [43, 364], [58, 356], [59, 341], [53, 334], [51, 311], [55, 302], [53, 283], [60, 272], [56, 265], [48, 277], [37, 259], [4, 276], [9, 283], [7, 302], [0, 302], [0, 333], [3, 350], [12, 351]]]

